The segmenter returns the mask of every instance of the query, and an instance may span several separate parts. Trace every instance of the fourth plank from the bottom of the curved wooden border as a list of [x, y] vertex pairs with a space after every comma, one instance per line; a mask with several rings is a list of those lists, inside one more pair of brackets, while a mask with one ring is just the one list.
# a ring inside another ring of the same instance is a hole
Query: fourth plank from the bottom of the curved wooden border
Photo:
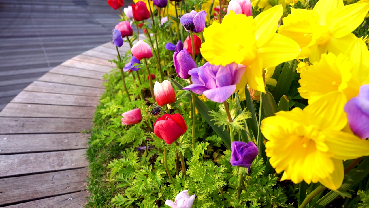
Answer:
[[0, 134], [0, 154], [83, 149], [88, 137], [82, 133]]

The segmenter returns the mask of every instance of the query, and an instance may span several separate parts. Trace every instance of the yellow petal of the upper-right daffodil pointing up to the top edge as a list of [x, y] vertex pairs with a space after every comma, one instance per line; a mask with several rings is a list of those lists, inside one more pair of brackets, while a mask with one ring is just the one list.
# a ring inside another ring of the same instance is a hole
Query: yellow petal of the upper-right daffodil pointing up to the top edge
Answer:
[[320, 25], [327, 25], [326, 19], [328, 13], [336, 8], [343, 7], [344, 2], [342, 0], [319, 0], [315, 4], [313, 11], [316, 11], [320, 17]]

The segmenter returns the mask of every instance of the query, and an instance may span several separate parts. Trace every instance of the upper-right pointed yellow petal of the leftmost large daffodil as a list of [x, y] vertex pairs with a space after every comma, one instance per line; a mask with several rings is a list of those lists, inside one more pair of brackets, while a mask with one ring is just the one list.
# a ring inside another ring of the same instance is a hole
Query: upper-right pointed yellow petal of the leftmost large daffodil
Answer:
[[255, 17], [255, 38], [258, 40], [257, 47], [263, 46], [276, 33], [278, 21], [282, 17], [282, 14], [282, 6], [277, 5]]

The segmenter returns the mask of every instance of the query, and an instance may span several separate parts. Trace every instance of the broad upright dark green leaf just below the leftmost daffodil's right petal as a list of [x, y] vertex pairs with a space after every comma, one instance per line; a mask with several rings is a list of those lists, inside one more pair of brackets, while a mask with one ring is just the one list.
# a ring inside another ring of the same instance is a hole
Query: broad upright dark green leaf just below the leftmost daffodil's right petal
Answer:
[[282, 95], [287, 95], [290, 85], [293, 80], [293, 75], [296, 72], [297, 60], [291, 60], [284, 63], [282, 72], [278, 78], [276, 87], [274, 88], [273, 97], [277, 103]]

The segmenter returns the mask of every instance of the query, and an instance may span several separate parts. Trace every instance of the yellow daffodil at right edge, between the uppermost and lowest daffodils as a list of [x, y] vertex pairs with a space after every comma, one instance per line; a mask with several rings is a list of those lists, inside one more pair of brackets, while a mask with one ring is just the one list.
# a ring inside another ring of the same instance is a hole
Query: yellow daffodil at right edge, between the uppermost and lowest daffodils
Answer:
[[345, 54], [323, 54], [300, 77], [299, 93], [309, 104], [332, 91], [343, 92], [349, 100], [358, 95], [362, 84], [369, 84], [369, 51], [356, 38]]

